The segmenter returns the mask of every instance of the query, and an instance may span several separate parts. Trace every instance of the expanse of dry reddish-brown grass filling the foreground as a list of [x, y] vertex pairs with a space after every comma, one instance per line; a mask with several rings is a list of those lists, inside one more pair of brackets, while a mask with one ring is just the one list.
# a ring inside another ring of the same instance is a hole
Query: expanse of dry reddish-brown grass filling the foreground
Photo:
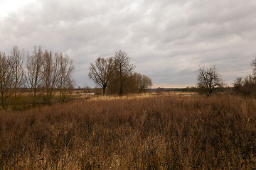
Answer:
[[0, 169], [253, 169], [256, 101], [155, 96], [0, 113]]

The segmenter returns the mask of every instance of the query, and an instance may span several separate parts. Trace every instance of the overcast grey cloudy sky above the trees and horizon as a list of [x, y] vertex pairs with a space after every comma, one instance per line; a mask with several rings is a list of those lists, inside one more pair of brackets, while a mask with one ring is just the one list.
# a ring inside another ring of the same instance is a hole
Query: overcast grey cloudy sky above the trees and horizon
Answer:
[[156, 87], [196, 85], [200, 65], [226, 84], [252, 73], [255, 0], [0, 0], [0, 51], [41, 46], [70, 56], [75, 86], [90, 62], [124, 50]]

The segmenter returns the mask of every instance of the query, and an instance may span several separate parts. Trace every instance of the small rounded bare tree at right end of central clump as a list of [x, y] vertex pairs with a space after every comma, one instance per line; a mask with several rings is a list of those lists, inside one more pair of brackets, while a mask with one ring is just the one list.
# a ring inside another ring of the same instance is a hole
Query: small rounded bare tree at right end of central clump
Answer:
[[136, 79], [136, 86], [139, 93], [146, 91], [152, 86], [152, 81], [149, 77], [144, 74], [134, 73]]

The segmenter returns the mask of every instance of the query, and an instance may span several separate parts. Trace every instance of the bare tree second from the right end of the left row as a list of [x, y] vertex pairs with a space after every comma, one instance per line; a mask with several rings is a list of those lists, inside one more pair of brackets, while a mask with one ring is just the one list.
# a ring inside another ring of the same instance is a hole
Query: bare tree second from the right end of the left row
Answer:
[[43, 83], [46, 86], [46, 103], [50, 103], [53, 96], [54, 88], [60, 75], [60, 57], [58, 53], [47, 50], [43, 53]]

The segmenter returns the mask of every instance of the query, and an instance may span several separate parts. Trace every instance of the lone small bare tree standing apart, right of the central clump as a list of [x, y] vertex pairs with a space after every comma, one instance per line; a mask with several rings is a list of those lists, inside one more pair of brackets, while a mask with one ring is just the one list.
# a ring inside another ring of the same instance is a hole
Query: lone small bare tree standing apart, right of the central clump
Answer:
[[213, 65], [209, 68], [200, 66], [198, 69], [198, 87], [210, 96], [217, 87], [223, 86], [223, 80], [220, 78], [220, 74], [216, 71], [216, 66]]

